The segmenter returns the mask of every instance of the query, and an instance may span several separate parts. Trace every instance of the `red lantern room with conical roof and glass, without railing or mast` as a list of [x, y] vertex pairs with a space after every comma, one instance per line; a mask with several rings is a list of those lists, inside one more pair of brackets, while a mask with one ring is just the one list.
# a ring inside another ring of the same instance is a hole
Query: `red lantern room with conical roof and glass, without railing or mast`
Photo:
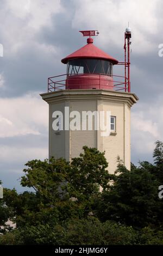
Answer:
[[66, 89], [114, 88], [112, 67], [118, 60], [93, 45], [92, 38], [61, 62], [67, 64]]

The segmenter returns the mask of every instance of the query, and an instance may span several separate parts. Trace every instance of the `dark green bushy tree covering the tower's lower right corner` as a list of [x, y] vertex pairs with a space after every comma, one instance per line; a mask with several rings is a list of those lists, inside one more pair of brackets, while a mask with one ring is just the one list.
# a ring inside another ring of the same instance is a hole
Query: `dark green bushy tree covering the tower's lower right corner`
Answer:
[[112, 176], [114, 184], [103, 191], [95, 203], [95, 212], [101, 221], [110, 219], [135, 228], [162, 223], [159, 183], [149, 169], [151, 164], [147, 162], [140, 163], [138, 168], [132, 166], [130, 171], [118, 165], [118, 175]]

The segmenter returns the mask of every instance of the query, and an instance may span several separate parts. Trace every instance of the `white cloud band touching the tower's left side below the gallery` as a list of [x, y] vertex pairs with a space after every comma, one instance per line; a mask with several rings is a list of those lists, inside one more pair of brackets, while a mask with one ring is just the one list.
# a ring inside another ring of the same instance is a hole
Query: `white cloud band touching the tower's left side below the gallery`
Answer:
[[0, 137], [39, 135], [48, 130], [48, 105], [39, 93], [0, 98]]

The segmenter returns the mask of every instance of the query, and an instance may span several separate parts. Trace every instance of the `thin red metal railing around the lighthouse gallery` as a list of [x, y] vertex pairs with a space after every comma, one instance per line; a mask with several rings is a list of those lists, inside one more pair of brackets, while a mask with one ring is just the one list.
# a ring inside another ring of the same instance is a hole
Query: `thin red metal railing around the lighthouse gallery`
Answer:
[[[78, 75], [83, 75], [83, 74], [78, 74]], [[84, 74], [84, 75], [90, 75], [90, 74]], [[91, 81], [95, 80], [96, 82], [95, 82], [95, 84], [91, 84], [91, 85], [96, 86], [96, 88], [99, 86], [99, 88], [97, 88], [97, 89], [101, 89], [100, 88], [101, 79], [104, 77], [104, 74], [92, 74], [92, 75], [96, 75], [96, 77], [92, 77]], [[73, 75], [71, 75], [71, 81], [73, 80], [72, 76]], [[77, 75], [75, 74], [75, 76], [77, 76]], [[128, 81], [126, 81], [127, 78], [125, 80], [124, 76], [116, 76], [116, 75], [111, 75], [110, 77], [113, 78], [114, 90], [124, 90], [124, 92], [129, 92]], [[64, 78], [64, 79], [62, 79], [62, 78]], [[116, 80], [114, 80], [114, 78]], [[66, 79], [67, 79], [67, 74], [49, 77], [48, 78], [48, 92], [56, 92], [57, 90], [67, 89], [66, 88]], [[118, 81], [120, 79], [124, 80], [124, 81]], [[74, 78], [74, 80], [76, 80], [76, 78]], [[84, 78], [84, 80], [87, 80], [87, 78]], [[73, 84], [73, 85], [78, 86], [78, 84]]]

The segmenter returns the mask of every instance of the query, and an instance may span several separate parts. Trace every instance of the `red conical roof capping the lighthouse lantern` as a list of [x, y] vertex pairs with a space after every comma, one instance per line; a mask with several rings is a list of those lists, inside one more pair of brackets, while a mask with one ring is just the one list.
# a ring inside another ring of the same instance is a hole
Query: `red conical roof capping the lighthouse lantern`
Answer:
[[76, 52], [71, 53], [66, 58], [62, 59], [61, 62], [66, 64], [69, 59], [75, 59], [75, 58], [95, 58], [95, 59], [108, 59], [112, 64], [117, 64], [118, 60], [111, 57], [109, 54], [103, 52], [99, 48], [97, 48], [95, 45], [92, 44], [93, 40], [92, 38], [88, 38], [87, 44], [77, 50]]

